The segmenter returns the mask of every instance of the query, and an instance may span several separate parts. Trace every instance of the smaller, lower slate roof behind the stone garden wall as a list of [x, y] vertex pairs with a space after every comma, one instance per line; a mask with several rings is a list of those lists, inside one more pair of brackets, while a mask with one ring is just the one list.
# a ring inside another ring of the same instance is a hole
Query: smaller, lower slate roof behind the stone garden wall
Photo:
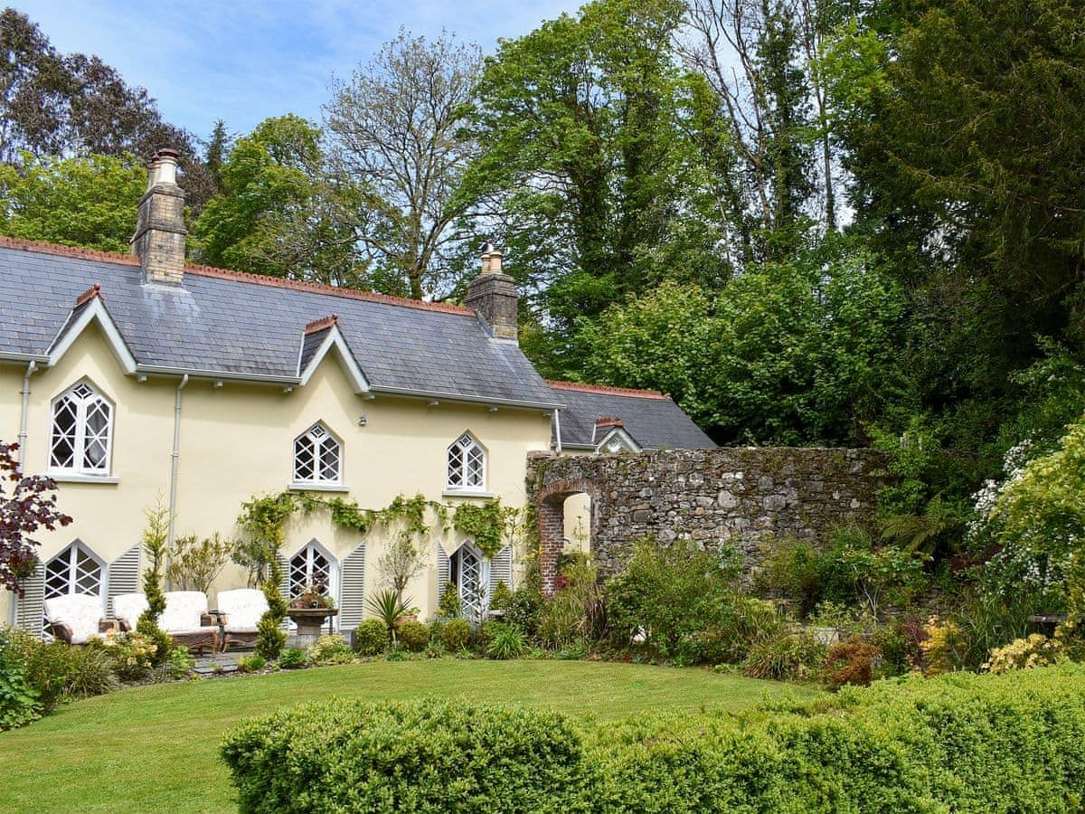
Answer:
[[548, 381], [561, 411], [563, 446], [591, 446], [596, 421], [620, 418], [625, 431], [643, 449], [712, 449], [716, 445], [681, 408], [654, 390]]

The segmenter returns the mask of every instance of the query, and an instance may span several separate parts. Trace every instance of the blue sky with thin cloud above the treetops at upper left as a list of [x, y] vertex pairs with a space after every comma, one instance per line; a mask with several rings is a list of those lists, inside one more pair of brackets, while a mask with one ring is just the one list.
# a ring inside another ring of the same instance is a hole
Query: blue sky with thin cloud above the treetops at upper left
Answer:
[[499, 37], [527, 34], [573, 12], [574, 0], [347, 2], [76, 2], [9, 0], [64, 52], [98, 54], [146, 88], [171, 124], [206, 137], [216, 118], [244, 133], [267, 118], [320, 118], [328, 82], [348, 77], [400, 26], [442, 28], [493, 53]]

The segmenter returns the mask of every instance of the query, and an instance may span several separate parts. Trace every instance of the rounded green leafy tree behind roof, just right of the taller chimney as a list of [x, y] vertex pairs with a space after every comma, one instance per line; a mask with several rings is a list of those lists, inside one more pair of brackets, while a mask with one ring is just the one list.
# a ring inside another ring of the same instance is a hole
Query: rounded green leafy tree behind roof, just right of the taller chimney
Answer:
[[320, 130], [294, 115], [238, 139], [221, 167], [226, 192], [192, 229], [196, 256], [241, 271], [365, 285], [348, 209], [355, 190], [324, 171]]

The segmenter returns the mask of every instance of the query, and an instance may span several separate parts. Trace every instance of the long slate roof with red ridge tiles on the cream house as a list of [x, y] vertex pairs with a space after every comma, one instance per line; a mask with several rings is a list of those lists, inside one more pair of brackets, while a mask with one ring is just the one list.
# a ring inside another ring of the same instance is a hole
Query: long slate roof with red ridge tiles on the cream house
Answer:
[[306, 325], [334, 313], [374, 391], [562, 404], [516, 343], [461, 306], [202, 266], [186, 267], [183, 289], [141, 281], [126, 255], [0, 239], [0, 358], [47, 354], [76, 298], [100, 283], [140, 369], [295, 378], [305, 345], [315, 349]]

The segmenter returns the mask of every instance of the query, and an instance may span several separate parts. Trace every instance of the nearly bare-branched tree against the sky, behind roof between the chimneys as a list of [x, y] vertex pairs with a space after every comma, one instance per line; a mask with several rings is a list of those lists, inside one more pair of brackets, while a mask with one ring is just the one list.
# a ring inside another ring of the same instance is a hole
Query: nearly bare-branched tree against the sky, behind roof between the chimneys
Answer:
[[449, 253], [463, 239], [456, 195], [476, 153], [458, 131], [482, 64], [477, 46], [447, 31], [435, 40], [400, 30], [326, 107], [336, 173], [368, 191], [357, 237], [390, 293], [447, 293]]

